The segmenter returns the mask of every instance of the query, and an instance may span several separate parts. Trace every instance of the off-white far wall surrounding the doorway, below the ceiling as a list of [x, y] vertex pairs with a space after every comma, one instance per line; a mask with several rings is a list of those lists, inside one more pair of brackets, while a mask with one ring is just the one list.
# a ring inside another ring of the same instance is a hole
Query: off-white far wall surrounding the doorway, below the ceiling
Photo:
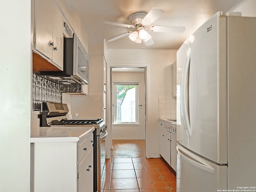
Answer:
[[[176, 50], [107, 49], [104, 54], [107, 74], [110, 67], [146, 66], [146, 157], [159, 157], [158, 97], [172, 95], [171, 64], [176, 61]], [[109, 83], [110, 79], [107, 77], [107, 91]], [[109, 101], [110, 98], [107, 96], [107, 102]], [[109, 112], [108, 108], [108, 116]], [[111, 125], [109, 118], [107, 123]], [[109, 132], [110, 129], [111, 127]]]

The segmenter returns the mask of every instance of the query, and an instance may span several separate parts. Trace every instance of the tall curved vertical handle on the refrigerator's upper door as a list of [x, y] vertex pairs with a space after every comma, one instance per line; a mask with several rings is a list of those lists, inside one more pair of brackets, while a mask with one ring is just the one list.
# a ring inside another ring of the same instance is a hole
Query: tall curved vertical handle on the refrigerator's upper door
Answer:
[[191, 48], [188, 49], [186, 54], [185, 64], [182, 72], [181, 80], [181, 113], [184, 122], [184, 127], [187, 136], [191, 137], [190, 119], [189, 119], [189, 98], [188, 98], [188, 81], [189, 81], [189, 66], [191, 58]]

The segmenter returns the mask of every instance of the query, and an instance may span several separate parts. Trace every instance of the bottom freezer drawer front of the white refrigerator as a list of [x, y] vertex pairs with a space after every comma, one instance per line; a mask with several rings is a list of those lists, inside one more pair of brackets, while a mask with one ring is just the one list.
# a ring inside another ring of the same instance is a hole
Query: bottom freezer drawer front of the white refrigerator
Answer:
[[177, 192], [216, 192], [227, 189], [227, 166], [220, 166], [177, 144]]

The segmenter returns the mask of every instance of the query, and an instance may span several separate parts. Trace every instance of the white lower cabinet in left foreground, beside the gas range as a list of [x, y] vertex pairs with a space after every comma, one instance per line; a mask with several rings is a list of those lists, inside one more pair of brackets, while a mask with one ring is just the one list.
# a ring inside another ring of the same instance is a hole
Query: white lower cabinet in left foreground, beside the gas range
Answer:
[[93, 192], [93, 130], [82, 140], [32, 143], [33, 192]]

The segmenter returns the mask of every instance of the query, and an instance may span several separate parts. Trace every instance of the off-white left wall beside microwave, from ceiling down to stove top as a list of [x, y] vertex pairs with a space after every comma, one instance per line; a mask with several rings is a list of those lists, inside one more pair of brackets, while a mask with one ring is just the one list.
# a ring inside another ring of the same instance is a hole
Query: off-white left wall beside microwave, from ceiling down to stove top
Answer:
[[69, 105], [70, 114], [78, 113], [79, 118], [103, 118], [103, 55], [98, 54], [98, 50], [103, 50], [103, 42], [91, 47], [90, 41], [93, 40], [88, 38], [86, 29], [81, 27], [72, 1], [55, 1], [89, 54], [88, 95], [64, 96], [62, 102]]

